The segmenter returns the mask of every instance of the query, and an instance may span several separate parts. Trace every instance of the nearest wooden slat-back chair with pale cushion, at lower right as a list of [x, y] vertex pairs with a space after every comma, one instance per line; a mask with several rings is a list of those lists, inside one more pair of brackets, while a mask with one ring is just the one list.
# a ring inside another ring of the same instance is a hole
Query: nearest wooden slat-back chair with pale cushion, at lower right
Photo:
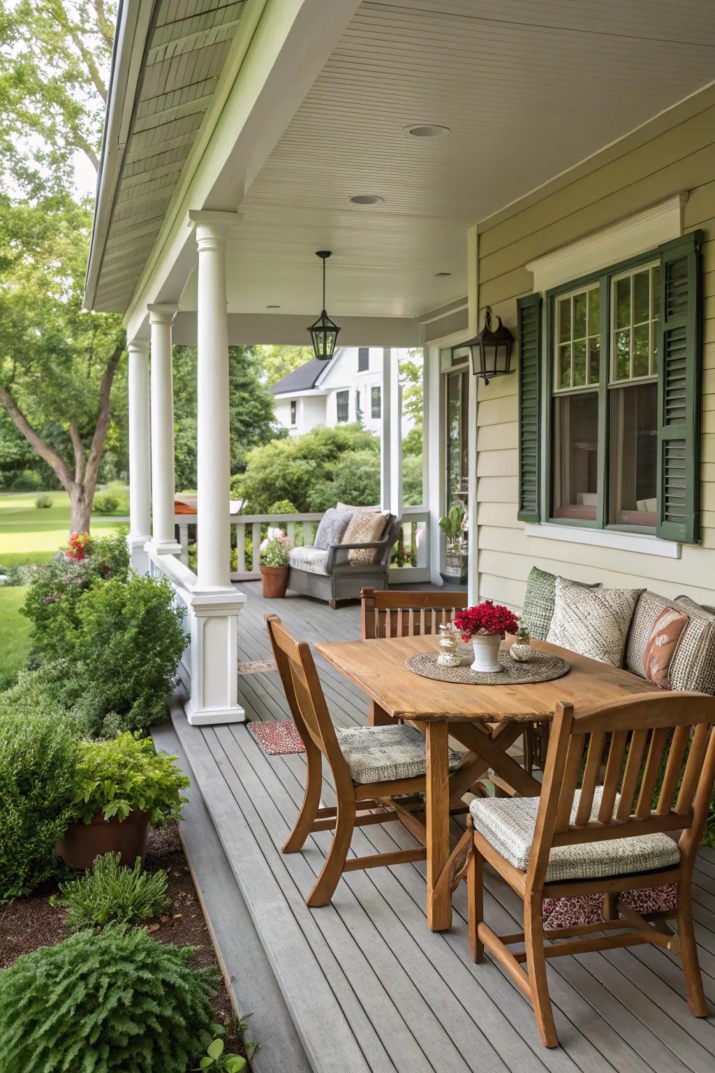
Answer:
[[[702, 693], [639, 695], [578, 715], [560, 704], [540, 797], [473, 802], [465, 836], [472, 956], [480, 961], [486, 946], [521, 988], [545, 1046], [558, 1044], [547, 958], [566, 954], [646, 942], [680, 954], [690, 1011], [707, 1016], [690, 887], [715, 784], [714, 722], [715, 697]], [[675, 831], [677, 842], [668, 835]], [[634, 836], [637, 846], [623, 843]], [[485, 923], [485, 861], [523, 899], [523, 932], [496, 936]], [[641, 916], [621, 900], [625, 891], [665, 883], [677, 888], [671, 912]], [[543, 898], [595, 893], [604, 894], [602, 923], [545, 931]], [[676, 935], [665, 923], [671, 917]], [[570, 941], [551, 944], [556, 939]], [[513, 944], [524, 952], [512, 953]]]

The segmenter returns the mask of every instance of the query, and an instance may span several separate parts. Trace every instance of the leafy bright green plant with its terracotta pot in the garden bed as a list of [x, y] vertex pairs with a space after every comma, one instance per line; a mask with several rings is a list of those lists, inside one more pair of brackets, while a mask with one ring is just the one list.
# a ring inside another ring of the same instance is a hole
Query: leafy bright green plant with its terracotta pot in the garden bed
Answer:
[[189, 779], [176, 756], [159, 753], [151, 738], [121, 734], [109, 741], [79, 741], [70, 825], [57, 852], [72, 868], [91, 868], [103, 853], [121, 864], [144, 862], [149, 826], [181, 818]]

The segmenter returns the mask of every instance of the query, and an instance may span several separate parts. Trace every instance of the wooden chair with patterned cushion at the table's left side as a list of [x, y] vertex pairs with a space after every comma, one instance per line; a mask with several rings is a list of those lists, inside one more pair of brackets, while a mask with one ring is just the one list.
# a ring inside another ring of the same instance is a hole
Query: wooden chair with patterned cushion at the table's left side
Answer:
[[[427, 858], [427, 851], [421, 846], [347, 859], [355, 827], [399, 820], [392, 798], [424, 793], [424, 739], [414, 726], [399, 724], [336, 729], [310, 646], [291, 636], [277, 615], [266, 615], [266, 626], [308, 761], [303, 803], [283, 852], [297, 853], [313, 832], [334, 829], [323, 869], [306, 898], [311, 907], [327, 906], [345, 871]], [[375, 743], [379, 746], [379, 755], [375, 755]], [[386, 753], [389, 753], [389, 770], [385, 764]], [[332, 771], [337, 807], [321, 808], [323, 756]], [[456, 770], [461, 762], [461, 755], [450, 750], [450, 768]], [[375, 776], [373, 779], [370, 779], [371, 774]], [[403, 800], [400, 807], [404, 808], [404, 804]]]

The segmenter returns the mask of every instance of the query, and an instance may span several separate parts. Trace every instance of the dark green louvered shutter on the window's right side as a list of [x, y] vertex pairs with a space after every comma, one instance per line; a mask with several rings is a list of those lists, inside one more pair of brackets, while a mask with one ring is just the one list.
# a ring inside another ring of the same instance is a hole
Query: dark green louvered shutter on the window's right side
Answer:
[[699, 539], [702, 232], [664, 246], [658, 321], [658, 520], [656, 533]]

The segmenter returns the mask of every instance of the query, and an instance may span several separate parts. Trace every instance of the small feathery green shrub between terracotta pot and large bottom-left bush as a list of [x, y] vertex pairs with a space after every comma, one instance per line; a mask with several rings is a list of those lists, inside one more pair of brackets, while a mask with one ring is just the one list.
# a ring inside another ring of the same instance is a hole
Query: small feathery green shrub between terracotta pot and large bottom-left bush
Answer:
[[120, 861], [120, 853], [96, 857], [90, 872], [62, 883], [60, 893], [50, 898], [53, 906], [66, 909], [71, 931], [113, 923], [140, 924], [168, 910], [166, 872], [144, 871], [139, 857], [133, 868], [123, 867]]

